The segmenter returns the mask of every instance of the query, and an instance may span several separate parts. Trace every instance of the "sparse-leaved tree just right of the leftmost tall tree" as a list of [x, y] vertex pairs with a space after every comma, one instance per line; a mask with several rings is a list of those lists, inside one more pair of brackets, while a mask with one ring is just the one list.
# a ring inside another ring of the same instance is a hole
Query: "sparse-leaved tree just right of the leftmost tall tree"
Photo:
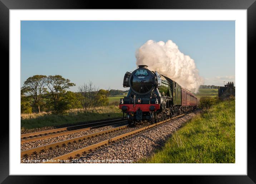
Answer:
[[50, 90], [50, 98], [53, 100], [54, 110], [58, 111], [58, 103], [61, 97], [64, 96], [67, 89], [75, 86], [75, 83], [71, 83], [69, 79], [65, 79], [61, 75], [50, 75], [47, 78], [47, 86]]

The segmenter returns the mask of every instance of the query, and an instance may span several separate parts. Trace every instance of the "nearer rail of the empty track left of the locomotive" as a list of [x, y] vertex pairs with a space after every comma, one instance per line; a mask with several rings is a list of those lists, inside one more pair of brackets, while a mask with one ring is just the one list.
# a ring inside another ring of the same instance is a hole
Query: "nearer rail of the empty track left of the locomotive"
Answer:
[[23, 139], [20, 142], [21, 142], [21, 144], [23, 144], [23, 143], [26, 143], [26, 142], [32, 142], [32, 141], [41, 140], [41, 139], [48, 139], [48, 138], [53, 138], [53, 137], [58, 137], [58, 136], [64, 136], [64, 135], [67, 135], [67, 134], [83, 132], [83, 131], [87, 131], [87, 130], [90, 130], [90, 129], [94, 129], [94, 128], [98, 128], [98, 127], [102, 127], [102, 126], [107, 126], [107, 125], [111, 125], [111, 124], [123, 123], [123, 122], [127, 122], [127, 120], [114, 122], [114, 123], [101, 124], [101, 125], [98, 125], [98, 126], [88, 127], [88, 128], [83, 128], [83, 129], [76, 129], [76, 130], [73, 130], [73, 131], [60, 132], [60, 133], [56, 133], [56, 134], [50, 134], [50, 135], [40, 136], [40, 137], [35, 137], [35, 138], [30, 138], [30, 139]]

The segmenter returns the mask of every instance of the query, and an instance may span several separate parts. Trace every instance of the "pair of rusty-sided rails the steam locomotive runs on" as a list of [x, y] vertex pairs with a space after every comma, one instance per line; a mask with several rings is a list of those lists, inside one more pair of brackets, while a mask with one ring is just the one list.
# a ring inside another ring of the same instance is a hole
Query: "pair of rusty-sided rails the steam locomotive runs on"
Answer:
[[[179, 118], [179, 117], [182, 117], [182, 116], [184, 116], [184, 114], [182, 114], [180, 116], [177, 116], [177, 117], [167, 119], [167, 120], [162, 121], [162, 122], [158, 122], [156, 124], [152, 124], [152, 125], [149, 125], [149, 126], [144, 126], [142, 128], [137, 128], [133, 131], [129, 131], [129, 132], [120, 134], [120, 135], [112, 137], [112, 138], [107, 138], [103, 141], [85, 146], [85, 147], [80, 148], [80, 149], [73, 150], [72, 152], [62, 154], [62, 155], [59, 155], [57, 157], [53, 157], [51, 159], [46, 159], [46, 161], [43, 162], [43, 163], [63, 163], [63, 162], [67, 163], [67, 160], [72, 160], [74, 158], [79, 158], [83, 154], [85, 154], [87, 152], [90, 152], [90, 151], [93, 151], [95, 148], [98, 148], [102, 145], [107, 145], [107, 144], [113, 143], [118, 139], [122, 139], [122, 138], [125, 138], [127, 136], [131, 136], [131, 135], [136, 134], [136, 133], [141, 132], [141, 131], [145, 131], [147, 129], [158, 126], [159, 124], [162, 124], [164, 122], [167, 122], [167, 121], [170, 121], [172, 119], [176, 119], [176, 118]], [[65, 145], [67, 145], [67, 144], [81, 142], [81, 141], [87, 139], [88, 137], [91, 137], [91, 138], [92, 137], [97, 137], [97, 136], [101, 136], [105, 133], [109, 133], [111, 131], [112, 132], [113, 131], [119, 131], [119, 130], [122, 130], [122, 129], [125, 129], [125, 128], [128, 128], [128, 125], [121, 126], [121, 127], [116, 127], [116, 128], [108, 129], [108, 130], [105, 130], [105, 131], [96, 132], [96, 133], [88, 134], [88, 135], [85, 135], [85, 136], [80, 136], [80, 137], [76, 137], [76, 138], [72, 138], [72, 139], [68, 139], [68, 140], [64, 140], [64, 141], [60, 141], [60, 142], [56, 142], [56, 143], [52, 143], [52, 144], [48, 144], [48, 145], [43, 145], [43, 146], [40, 146], [40, 147], [37, 147], [37, 148], [31, 148], [31, 149], [28, 149], [28, 150], [23, 150], [21, 152], [21, 157], [26, 157], [29, 154], [37, 154], [39, 152], [45, 152], [45, 150], [53, 149], [54, 147], [57, 147], [57, 148], [60, 147], [60, 146], [65, 147]], [[63, 161], [63, 160], [65, 160], [65, 161]], [[69, 163], [71, 163], [71, 162], [69, 161]]]

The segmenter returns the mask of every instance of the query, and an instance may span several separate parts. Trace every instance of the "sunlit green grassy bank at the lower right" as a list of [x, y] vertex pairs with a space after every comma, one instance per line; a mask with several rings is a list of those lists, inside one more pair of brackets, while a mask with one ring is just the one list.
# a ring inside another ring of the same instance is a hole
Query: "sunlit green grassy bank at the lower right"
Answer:
[[235, 163], [235, 101], [198, 114], [139, 163]]

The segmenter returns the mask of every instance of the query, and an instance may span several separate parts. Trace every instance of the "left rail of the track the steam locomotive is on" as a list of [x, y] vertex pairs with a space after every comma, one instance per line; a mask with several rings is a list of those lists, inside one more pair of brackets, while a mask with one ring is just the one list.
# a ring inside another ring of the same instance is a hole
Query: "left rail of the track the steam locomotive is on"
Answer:
[[22, 150], [21, 153], [20, 153], [20, 157], [27, 157], [30, 154], [36, 154], [38, 152], [45, 152], [45, 150], [47, 150], [47, 149], [53, 149], [54, 147], [65, 146], [66, 144], [69, 144], [69, 143], [72, 143], [72, 142], [74, 142], [74, 143], [75, 142], [80, 142], [83, 139], [86, 139], [86, 138], [89, 138], [89, 137], [100, 136], [102, 134], [122, 130], [122, 129], [127, 128], [127, 127], [128, 127], [128, 125], [115, 127], [115, 128], [110, 128], [110, 129], [107, 129], [107, 130], [104, 130], [104, 131], [95, 132], [95, 133], [91, 133], [91, 134], [86, 134], [84, 136], [70, 138], [70, 139], [59, 141], [59, 142], [55, 142], [55, 143], [51, 143], [51, 144], [45, 144], [45, 145], [42, 145], [42, 146], [39, 146], [39, 147]]

